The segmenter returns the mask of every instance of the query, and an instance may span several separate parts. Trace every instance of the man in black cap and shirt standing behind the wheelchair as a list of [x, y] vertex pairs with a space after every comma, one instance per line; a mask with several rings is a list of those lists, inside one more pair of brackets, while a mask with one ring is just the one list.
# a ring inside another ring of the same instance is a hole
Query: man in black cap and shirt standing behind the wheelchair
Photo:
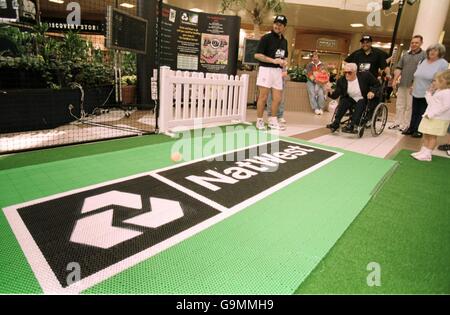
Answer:
[[356, 63], [358, 72], [369, 71], [375, 78], [379, 77], [379, 70], [385, 70], [387, 79], [390, 79], [390, 68], [386, 62], [388, 58], [387, 53], [372, 47], [372, 37], [365, 35], [361, 38], [361, 49], [348, 56], [345, 62]]

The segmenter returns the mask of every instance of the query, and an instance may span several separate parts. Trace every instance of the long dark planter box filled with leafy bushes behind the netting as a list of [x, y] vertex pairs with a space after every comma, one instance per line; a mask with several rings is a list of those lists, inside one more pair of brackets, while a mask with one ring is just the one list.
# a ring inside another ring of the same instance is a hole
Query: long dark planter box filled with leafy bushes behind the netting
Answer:
[[46, 36], [47, 29], [45, 24], [32, 33], [0, 28], [18, 47], [16, 55], [0, 52], [0, 133], [50, 129], [80, 117], [81, 91], [74, 83], [84, 90], [88, 114], [113, 102], [114, 75], [103, 52], [76, 33], [57, 40]]

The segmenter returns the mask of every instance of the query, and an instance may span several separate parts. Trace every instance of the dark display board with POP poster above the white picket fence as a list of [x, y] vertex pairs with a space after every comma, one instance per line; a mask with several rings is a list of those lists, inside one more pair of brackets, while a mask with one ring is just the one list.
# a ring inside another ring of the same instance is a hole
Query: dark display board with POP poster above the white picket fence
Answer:
[[236, 74], [238, 16], [207, 14], [163, 5], [162, 66], [173, 70]]

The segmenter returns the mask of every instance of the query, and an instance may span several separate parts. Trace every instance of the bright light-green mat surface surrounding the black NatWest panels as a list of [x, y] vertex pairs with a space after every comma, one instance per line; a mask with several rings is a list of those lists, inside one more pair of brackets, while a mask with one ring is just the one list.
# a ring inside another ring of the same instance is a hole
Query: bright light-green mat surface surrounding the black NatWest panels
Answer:
[[[230, 136], [223, 135], [224, 139]], [[242, 138], [239, 132], [233, 136]], [[237, 146], [254, 144], [251, 139]], [[63, 160], [49, 157], [52, 162], [24, 162], [28, 166], [13, 169], [5, 166], [6, 170], [0, 172], [0, 206], [173, 165], [173, 144], [86, 153]], [[59, 150], [51, 150], [51, 154], [58, 155]], [[85, 293], [291, 294], [351, 225], [394, 166], [392, 161], [345, 152], [330, 164]], [[0, 292], [40, 293], [3, 213], [0, 231]]]

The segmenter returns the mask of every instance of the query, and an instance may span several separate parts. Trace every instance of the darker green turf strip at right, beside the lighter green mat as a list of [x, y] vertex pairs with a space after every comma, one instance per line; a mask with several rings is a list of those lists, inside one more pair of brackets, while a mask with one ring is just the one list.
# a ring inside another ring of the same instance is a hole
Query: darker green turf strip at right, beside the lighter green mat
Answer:
[[[450, 161], [410, 153], [296, 293], [450, 294]], [[367, 285], [370, 262], [380, 287]]]

